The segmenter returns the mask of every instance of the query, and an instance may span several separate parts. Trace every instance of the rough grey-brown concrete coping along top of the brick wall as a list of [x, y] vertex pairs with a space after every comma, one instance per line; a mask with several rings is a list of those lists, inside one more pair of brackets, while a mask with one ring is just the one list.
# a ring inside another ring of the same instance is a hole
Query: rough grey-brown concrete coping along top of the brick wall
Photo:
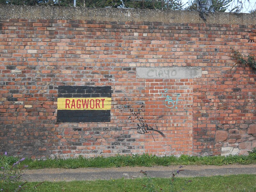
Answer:
[[[256, 14], [216, 12], [206, 23], [255, 25]], [[0, 19], [58, 19], [204, 23], [196, 11], [0, 5]]]

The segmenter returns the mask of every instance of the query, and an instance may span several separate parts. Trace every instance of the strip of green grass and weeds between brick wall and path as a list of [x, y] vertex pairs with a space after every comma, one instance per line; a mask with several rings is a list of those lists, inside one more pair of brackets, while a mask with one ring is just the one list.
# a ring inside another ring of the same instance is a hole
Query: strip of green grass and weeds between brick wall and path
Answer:
[[[0, 162], [1, 163], [1, 162]], [[224, 165], [224, 164], [256, 164], [256, 153], [248, 156], [155, 156], [155, 155], [132, 155], [95, 158], [68, 158], [68, 159], [26, 159], [20, 166], [28, 165], [29, 169], [43, 168], [67, 168], [79, 167], [123, 167], [123, 166], [167, 166], [167, 165]]]

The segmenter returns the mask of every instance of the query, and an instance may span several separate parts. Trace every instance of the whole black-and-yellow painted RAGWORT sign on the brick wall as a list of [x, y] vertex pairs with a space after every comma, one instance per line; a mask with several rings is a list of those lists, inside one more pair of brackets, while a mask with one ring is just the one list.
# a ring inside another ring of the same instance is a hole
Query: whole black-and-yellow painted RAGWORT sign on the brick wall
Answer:
[[110, 122], [110, 86], [59, 86], [57, 122]]

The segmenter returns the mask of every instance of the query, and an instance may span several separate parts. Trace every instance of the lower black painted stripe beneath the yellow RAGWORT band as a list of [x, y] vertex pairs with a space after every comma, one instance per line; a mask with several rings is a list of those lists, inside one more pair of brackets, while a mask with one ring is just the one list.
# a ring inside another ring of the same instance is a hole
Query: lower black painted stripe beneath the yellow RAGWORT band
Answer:
[[58, 110], [57, 123], [110, 122], [110, 110]]

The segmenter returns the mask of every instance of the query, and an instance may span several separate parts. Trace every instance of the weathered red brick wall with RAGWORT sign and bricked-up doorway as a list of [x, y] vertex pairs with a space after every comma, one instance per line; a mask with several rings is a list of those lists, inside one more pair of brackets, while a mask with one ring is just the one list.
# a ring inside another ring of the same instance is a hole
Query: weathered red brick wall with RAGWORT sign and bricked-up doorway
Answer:
[[[255, 28], [0, 19], [1, 153], [246, 154], [256, 147], [256, 75], [230, 47], [256, 54]], [[141, 77], [141, 67], [152, 74]], [[177, 76], [167, 74], [173, 67]], [[199, 76], [182, 76], [194, 67]], [[111, 98], [110, 111], [100, 99], [91, 102], [103, 115], [74, 100], [77, 112], [60, 115], [59, 98]]]

